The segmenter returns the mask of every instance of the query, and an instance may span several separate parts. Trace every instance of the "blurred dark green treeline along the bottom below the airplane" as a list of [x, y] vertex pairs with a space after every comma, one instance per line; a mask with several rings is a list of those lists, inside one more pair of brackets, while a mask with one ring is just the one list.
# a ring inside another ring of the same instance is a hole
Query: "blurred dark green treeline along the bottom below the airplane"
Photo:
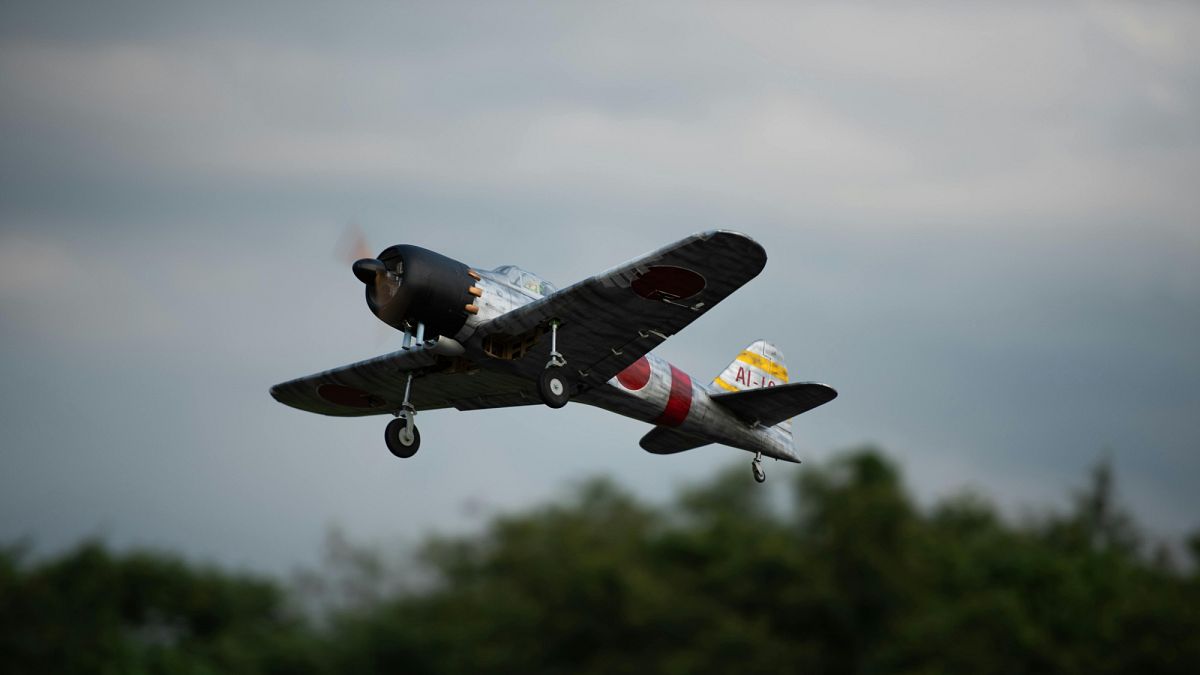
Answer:
[[8, 546], [0, 670], [1200, 671], [1200, 538], [1192, 560], [1145, 540], [1106, 465], [1019, 522], [979, 496], [922, 509], [870, 449], [794, 476], [787, 509], [740, 465], [667, 507], [594, 480], [398, 562], [342, 542], [302, 584]]

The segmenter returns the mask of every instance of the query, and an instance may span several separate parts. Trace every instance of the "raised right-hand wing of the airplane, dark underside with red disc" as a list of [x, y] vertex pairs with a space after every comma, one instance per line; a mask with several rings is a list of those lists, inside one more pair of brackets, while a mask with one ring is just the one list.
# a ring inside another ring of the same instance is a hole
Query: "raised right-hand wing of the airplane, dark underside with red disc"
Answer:
[[[750, 281], [767, 264], [757, 241], [737, 232], [703, 232], [517, 307], [479, 329], [484, 350], [539, 344], [514, 360], [536, 377], [546, 365], [551, 319], [558, 348], [584, 384], [607, 382]], [[545, 347], [545, 348], [542, 348]]]

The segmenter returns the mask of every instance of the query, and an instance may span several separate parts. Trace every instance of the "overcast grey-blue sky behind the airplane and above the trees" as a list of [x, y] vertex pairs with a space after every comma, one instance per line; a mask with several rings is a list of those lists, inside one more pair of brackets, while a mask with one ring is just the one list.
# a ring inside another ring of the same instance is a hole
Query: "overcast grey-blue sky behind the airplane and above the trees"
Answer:
[[1108, 453], [1146, 525], [1193, 530], [1196, 44], [1187, 4], [5, 2], [0, 539], [282, 571], [334, 524], [749, 464], [580, 405], [430, 412], [398, 461], [383, 419], [276, 404], [398, 347], [350, 222], [559, 286], [745, 232], [763, 274], [660, 353], [708, 378], [779, 345], [841, 392], [794, 422], [806, 460], [875, 442], [923, 500], [1015, 514]]

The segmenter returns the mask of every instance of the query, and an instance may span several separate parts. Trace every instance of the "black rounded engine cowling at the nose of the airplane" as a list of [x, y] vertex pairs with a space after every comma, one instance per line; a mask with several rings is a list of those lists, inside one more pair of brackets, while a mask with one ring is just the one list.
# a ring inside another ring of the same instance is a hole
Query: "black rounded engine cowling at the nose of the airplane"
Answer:
[[426, 339], [452, 338], [478, 311], [478, 276], [466, 264], [409, 244], [389, 246], [378, 259], [354, 263], [354, 274], [366, 285], [367, 306], [380, 321], [398, 330], [425, 324]]

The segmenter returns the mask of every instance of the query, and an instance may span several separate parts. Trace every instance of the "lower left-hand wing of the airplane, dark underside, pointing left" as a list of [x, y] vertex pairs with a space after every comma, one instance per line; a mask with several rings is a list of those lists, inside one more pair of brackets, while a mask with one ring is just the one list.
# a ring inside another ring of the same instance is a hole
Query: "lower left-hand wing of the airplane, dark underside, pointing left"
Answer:
[[320, 414], [390, 414], [404, 400], [409, 372], [414, 381], [412, 402], [419, 411], [540, 402], [534, 383], [527, 378], [480, 370], [470, 362], [424, 346], [283, 382], [271, 387], [271, 396]]

